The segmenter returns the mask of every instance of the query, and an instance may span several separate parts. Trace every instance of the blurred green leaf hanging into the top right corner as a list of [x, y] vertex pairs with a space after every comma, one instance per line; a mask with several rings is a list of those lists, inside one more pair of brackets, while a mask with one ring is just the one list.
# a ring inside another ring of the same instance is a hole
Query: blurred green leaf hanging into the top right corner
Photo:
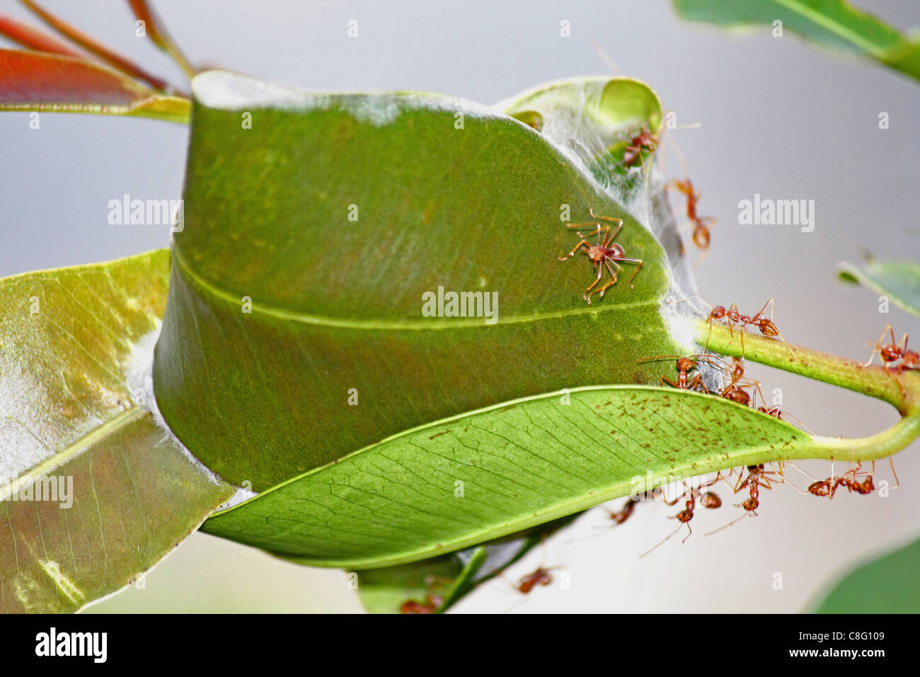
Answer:
[[920, 80], [920, 43], [845, 0], [673, 0], [691, 21], [719, 26], [771, 26], [783, 22], [808, 40], [875, 59]]

